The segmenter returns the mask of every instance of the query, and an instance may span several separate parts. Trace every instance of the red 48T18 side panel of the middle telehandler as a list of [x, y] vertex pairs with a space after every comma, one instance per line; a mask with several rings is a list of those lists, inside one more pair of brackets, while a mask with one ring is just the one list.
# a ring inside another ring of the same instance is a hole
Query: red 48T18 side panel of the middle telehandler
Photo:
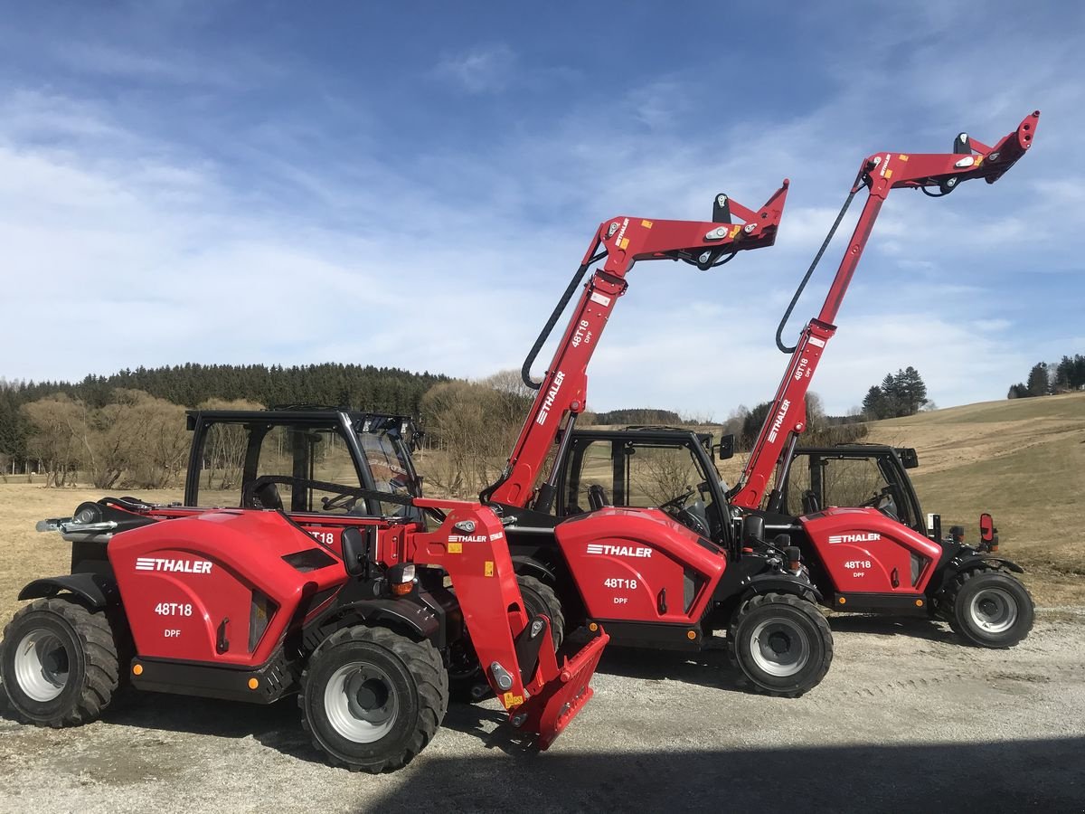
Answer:
[[722, 549], [659, 509], [603, 508], [554, 535], [593, 619], [691, 624], [727, 564]]

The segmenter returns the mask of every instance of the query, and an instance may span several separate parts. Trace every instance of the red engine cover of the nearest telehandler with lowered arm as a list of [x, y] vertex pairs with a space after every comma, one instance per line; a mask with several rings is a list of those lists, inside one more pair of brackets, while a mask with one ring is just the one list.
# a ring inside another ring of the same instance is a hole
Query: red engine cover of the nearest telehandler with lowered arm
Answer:
[[[311, 549], [327, 554], [326, 567], [282, 559]], [[118, 534], [107, 550], [137, 652], [151, 658], [258, 666], [303, 600], [346, 581], [334, 551], [275, 511], [178, 518]], [[254, 636], [251, 625], [265, 620]]]

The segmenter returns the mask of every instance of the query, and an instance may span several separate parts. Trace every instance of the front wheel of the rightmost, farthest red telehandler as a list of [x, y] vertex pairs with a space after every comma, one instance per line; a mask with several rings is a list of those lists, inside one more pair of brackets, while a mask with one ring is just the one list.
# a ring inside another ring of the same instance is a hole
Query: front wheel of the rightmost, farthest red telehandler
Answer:
[[1017, 645], [1035, 619], [1027, 588], [990, 568], [959, 574], [949, 586], [945, 609], [954, 633], [970, 645], [994, 649]]

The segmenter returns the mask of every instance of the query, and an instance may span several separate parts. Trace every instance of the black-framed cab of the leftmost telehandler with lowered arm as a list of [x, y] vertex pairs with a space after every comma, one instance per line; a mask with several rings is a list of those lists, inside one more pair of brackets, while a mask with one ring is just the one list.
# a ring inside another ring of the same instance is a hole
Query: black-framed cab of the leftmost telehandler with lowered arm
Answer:
[[[239, 506], [290, 512], [403, 514], [375, 498], [336, 500], [336, 485], [420, 497], [411, 450], [421, 432], [404, 416], [348, 409], [189, 410], [192, 431], [186, 506]], [[293, 483], [260, 486], [271, 475]], [[252, 492], [252, 489], [248, 489]], [[250, 505], [252, 504], [252, 505]]]

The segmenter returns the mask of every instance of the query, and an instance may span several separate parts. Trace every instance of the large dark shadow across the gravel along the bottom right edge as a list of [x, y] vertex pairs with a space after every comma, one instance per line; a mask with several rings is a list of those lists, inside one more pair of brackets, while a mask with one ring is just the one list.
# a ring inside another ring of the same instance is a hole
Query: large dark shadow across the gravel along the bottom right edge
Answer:
[[438, 758], [358, 811], [1082, 812], [1083, 749], [1067, 738]]

